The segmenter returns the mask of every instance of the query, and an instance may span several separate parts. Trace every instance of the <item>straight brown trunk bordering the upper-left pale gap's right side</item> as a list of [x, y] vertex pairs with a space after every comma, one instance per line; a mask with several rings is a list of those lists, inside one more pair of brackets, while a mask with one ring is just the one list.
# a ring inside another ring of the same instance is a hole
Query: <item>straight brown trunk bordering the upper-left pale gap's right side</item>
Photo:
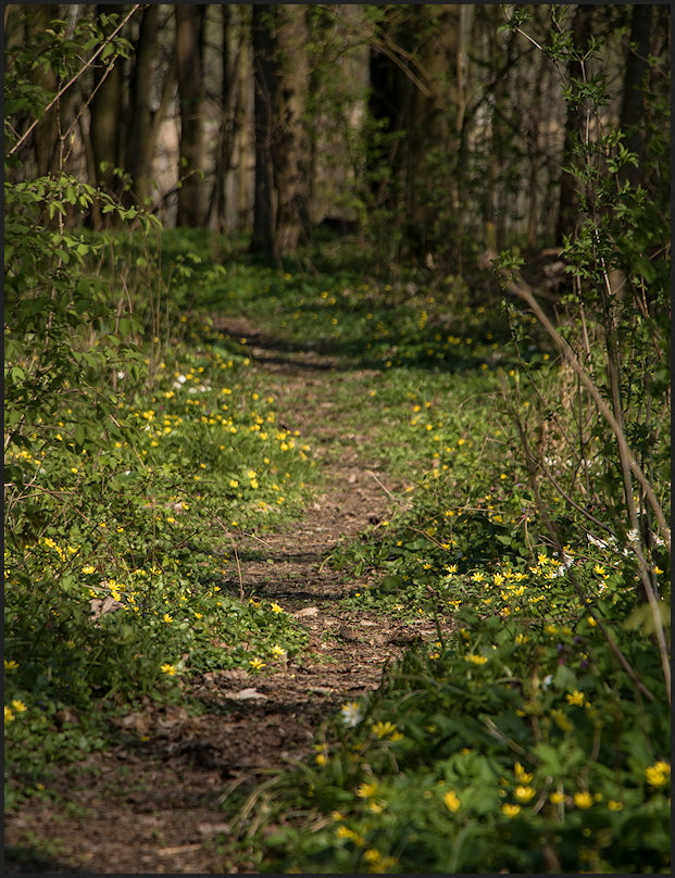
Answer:
[[203, 3], [189, 5], [177, 3], [176, 62], [178, 97], [180, 104], [178, 226], [201, 227], [204, 225], [203, 208], [203, 79], [202, 37]]

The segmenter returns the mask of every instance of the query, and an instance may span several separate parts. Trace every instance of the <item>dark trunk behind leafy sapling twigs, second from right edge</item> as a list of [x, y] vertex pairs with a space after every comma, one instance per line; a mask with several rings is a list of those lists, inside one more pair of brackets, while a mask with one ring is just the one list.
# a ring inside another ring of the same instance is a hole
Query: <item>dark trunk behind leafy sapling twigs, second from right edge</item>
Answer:
[[[592, 36], [593, 7], [590, 3], [579, 3], [572, 20], [572, 38], [576, 53], [584, 54], [588, 49]], [[570, 59], [570, 79], [579, 79], [582, 66], [576, 58]], [[574, 145], [583, 136], [584, 130], [584, 108], [582, 105], [567, 106], [567, 117], [565, 120], [565, 143], [563, 148], [563, 164], [572, 164], [576, 161], [574, 155]], [[555, 229], [555, 241], [563, 243], [563, 239], [572, 235], [576, 228], [578, 220], [578, 195], [577, 180], [573, 174], [563, 172], [560, 178], [560, 200], [558, 203], [558, 226]]]

